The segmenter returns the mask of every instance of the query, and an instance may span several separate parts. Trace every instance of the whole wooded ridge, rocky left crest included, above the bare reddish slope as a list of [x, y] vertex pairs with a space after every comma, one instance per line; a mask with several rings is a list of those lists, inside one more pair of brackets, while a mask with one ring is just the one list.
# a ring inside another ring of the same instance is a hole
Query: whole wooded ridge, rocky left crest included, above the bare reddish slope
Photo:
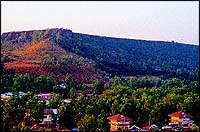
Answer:
[[55, 28], [3, 33], [2, 50], [19, 50], [44, 39], [94, 61], [96, 68], [111, 75], [177, 76], [190, 80], [199, 76], [199, 46], [173, 41], [101, 37]]

